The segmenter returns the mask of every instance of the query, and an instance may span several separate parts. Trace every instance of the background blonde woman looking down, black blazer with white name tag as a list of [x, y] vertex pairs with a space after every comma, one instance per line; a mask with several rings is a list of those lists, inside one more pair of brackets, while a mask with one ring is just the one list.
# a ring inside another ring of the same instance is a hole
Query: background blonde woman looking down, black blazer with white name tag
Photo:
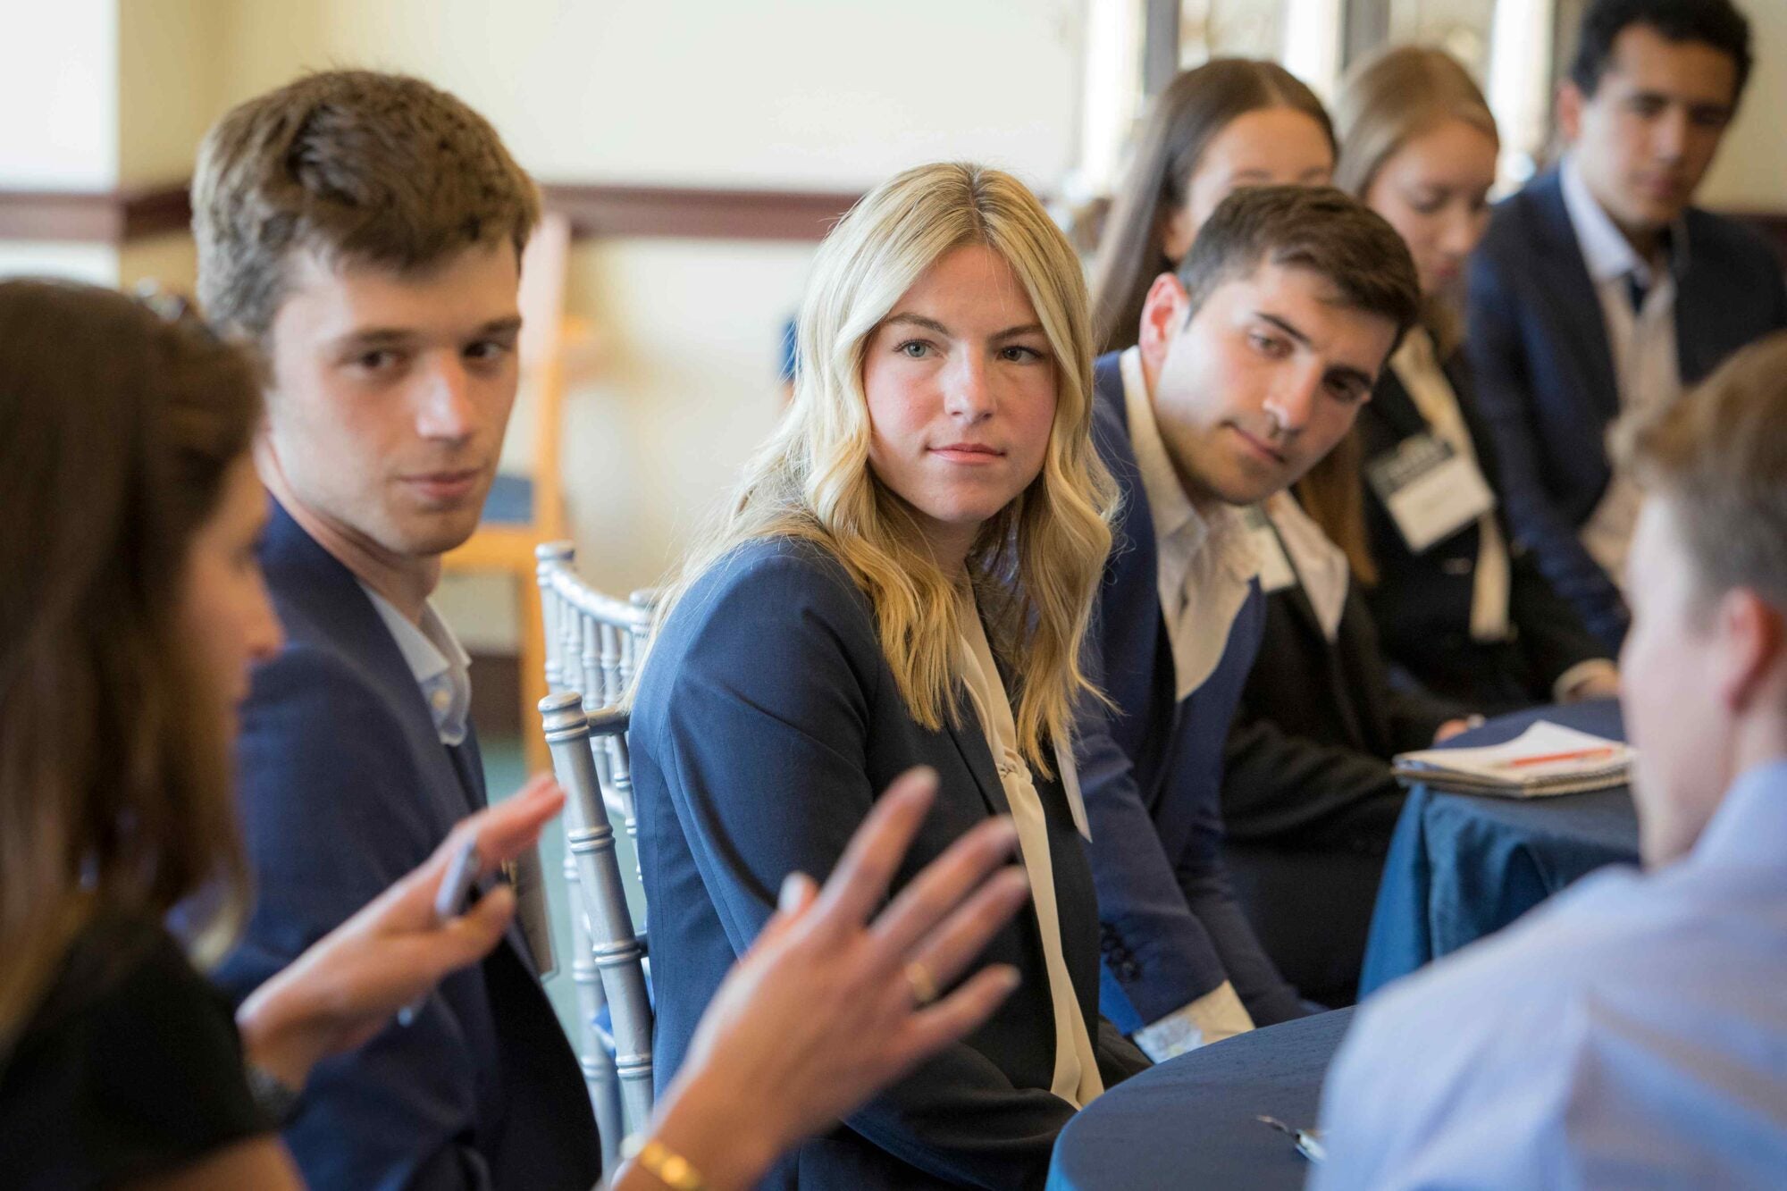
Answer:
[[[1485, 712], [1614, 696], [1607, 649], [1514, 544], [1460, 351], [1464, 263], [1496, 181], [1489, 104], [1447, 54], [1401, 46], [1346, 80], [1335, 114], [1335, 181], [1408, 241], [1424, 318], [1360, 413], [1351, 499], [1310, 511], [1347, 547], [1388, 658], [1435, 694]], [[1399, 520], [1387, 503], [1417, 479], [1390, 460], [1415, 454], [1447, 469], [1455, 513], [1440, 524]]]

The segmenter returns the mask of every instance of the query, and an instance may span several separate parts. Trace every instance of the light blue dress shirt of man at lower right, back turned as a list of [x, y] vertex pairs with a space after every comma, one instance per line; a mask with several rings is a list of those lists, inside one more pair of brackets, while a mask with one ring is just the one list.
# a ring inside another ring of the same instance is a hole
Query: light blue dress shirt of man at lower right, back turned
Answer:
[[1367, 1001], [1312, 1187], [1787, 1187], [1787, 764]]

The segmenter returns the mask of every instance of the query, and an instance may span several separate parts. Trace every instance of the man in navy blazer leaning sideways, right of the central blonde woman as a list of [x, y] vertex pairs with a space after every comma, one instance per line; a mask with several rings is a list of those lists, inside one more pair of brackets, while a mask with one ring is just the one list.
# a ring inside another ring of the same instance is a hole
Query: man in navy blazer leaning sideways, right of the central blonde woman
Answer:
[[1122, 488], [1078, 722], [1103, 1012], [1160, 1060], [1305, 1012], [1221, 860], [1222, 751], [1260, 647], [1244, 510], [1353, 426], [1414, 322], [1408, 249], [1337, 190], [1251, 188], [1154, 279], [1140, 343], [1095, 367], [1094, 438]]

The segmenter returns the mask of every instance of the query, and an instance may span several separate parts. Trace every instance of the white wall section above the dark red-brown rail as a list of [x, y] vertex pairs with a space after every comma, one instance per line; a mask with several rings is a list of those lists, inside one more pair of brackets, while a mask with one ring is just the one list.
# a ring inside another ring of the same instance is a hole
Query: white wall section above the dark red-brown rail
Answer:
[[1081, 0], [236, 2], [225, 98], [295, 68], [411, 70], [547, 181], [867, 186], [1074, 152]]

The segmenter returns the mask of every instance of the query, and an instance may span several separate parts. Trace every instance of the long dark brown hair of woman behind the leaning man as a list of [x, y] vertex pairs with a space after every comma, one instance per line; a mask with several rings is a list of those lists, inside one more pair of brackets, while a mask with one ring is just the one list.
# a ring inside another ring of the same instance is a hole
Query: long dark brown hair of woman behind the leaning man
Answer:
[[1149, 284], [1174, 268], [1162, 247], [1165, 220], [1185, 206], [1204, 147], [1231, 120], [1262, 107], [1301, 111], [1335, 143], [1322, 102], [1278, 63], [1212, 59], [1154, 97], [1135, 159], [1103, 220], [1092, 265], [1092, 333], [1099, 352], [1135, 345]]

